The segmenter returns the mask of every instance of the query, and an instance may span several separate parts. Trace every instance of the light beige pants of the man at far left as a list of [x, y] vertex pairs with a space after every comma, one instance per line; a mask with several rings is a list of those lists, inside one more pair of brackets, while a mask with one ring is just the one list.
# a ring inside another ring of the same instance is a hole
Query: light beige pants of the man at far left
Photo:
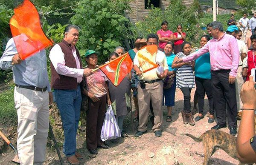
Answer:
[[42, 165], [49, 129], [48, 92], [15, 87], [20, 165]]

